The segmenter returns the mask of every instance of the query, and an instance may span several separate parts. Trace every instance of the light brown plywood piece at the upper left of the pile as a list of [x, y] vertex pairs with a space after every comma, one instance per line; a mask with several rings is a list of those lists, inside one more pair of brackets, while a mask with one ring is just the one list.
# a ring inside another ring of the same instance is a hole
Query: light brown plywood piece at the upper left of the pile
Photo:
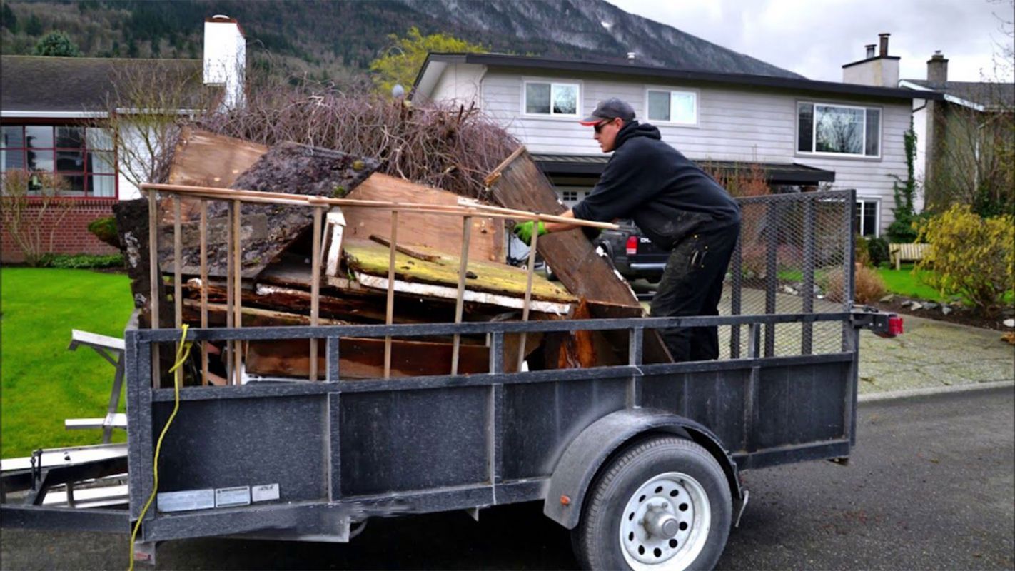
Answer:
[[[185, 127], [173, 153], [167, 182], [227, 189], [266, 152], [268, 147], [264, 145]], [[182, 221], [194, 220], [199, 215], [197, 205], [198, 199], [183, 200]], [[159, 220], [172, 223], [172, 212], [166, 210], [161, 209]]]

